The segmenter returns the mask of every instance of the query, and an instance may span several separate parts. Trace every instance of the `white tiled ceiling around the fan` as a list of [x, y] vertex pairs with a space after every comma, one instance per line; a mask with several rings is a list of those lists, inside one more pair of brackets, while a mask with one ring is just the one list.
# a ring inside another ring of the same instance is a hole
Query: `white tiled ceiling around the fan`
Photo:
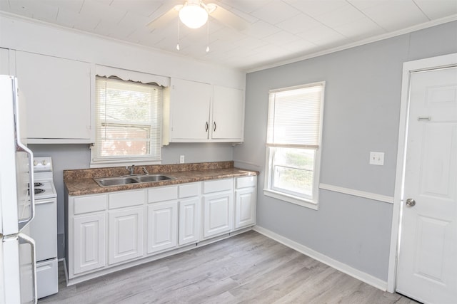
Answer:
[[[184, 0], [0, 0], [0, 11], [242, 70], [457, 20], [457, 0], [207, 0], [248, 21], [236, 31], [210, 17], [191, 30], [178, 15], [146, 24]], [[206, 53], [209, 44], [210, 51]]]

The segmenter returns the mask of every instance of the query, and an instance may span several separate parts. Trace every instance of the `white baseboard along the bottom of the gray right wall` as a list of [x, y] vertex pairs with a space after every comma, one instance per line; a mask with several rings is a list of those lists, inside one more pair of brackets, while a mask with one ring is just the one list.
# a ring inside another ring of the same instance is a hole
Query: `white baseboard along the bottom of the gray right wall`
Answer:
[[311, 248], [303, 246], [301, 245], [301, 243], [297, 243], [296, 241], [286, 239], [285, 237], [280, 236], [279, 234], [275, 234], [273, 231], [265, 229], [261, 226], [254, 226], [253, 230], [257, 231], [259, 234], [267, 236], [270, 239], [278, 241], [279, 243], [282, 243], [283, 245], [288, 246], [289, 248], [292, 248], [300, 253], [303, 253], [306, 256], [309, 256], [317, 261], [320, 261], [328, 266], [331, 266], [332, 268], [335, 268], [336, 270], [341, 271], [342, 273], [346, 273], [348, 276], [352, 276], [353, 278], [356, 278], [364, 283], [372, 285], [373, 287], [376, 287], [383, 291], [387, 290], [386, 281], [371, 276], [368, 273], [364, 273], [363, 271], [359, 271], [358, 269], [348, 266], [345, 263], [333, 260], [333, 258], [329, 258], [328, 256], [325, 256], [322, 253], [318, 253], [317, 251], [314, 251]]

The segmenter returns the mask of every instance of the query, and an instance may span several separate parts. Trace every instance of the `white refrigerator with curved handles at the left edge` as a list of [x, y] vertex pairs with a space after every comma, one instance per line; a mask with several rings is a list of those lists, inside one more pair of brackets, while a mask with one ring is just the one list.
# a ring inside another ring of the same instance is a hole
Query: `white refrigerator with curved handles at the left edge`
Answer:
[[17, 81], [0, 75], [0, 304], [36, 303], [33, 154], [24, 145]]

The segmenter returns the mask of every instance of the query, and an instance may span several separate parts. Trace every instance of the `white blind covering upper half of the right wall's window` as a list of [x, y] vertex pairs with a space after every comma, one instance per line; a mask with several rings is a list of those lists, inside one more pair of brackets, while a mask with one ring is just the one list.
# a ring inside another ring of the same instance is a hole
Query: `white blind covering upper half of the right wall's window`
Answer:
[[266, 144], [317, 148], [323, 85], [271, 90]]

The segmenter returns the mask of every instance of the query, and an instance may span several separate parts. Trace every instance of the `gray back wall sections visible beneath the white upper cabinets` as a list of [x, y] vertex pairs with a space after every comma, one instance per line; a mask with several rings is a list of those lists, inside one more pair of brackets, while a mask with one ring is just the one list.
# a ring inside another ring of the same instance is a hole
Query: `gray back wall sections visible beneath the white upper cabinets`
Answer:
[[[59, 258], [64, 258], [64, 170], [89, 168], [89, 145], [29, 145], [34, 156], [52, 157], [54, 185], [57, 192], [57, 234]], [[162, 164], [179, 163], [179, 155], [186, 162], [220, 162], [233, 159], [233, 147], [227, 143], [171, 143], [162, 148]]]

